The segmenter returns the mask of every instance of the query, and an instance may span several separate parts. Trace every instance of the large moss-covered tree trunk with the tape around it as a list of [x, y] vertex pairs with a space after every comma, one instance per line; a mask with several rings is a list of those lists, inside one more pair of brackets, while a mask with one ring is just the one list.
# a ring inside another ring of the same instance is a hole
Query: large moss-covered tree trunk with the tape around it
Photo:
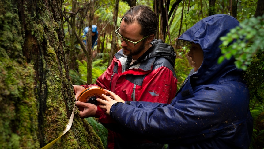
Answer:
[[[0, 1], [0, 148], [41, 148], [68, 123], [74, 92], [62, 2]], [[104, 148], [75, 110], [70, 131], [51, 148]]]

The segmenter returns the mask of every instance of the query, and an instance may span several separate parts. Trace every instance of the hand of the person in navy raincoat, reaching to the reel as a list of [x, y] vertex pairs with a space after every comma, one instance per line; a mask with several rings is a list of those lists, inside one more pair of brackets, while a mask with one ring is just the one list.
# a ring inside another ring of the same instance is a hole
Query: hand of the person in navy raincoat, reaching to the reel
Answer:
[[99, 107], [103, 108], [103, 109], [106, 109], [106, 114], [110, 115], [110, 109], [111, 109], [113, 104], [115, 104], [117, 102], [125, 103], [125, 101], [122, 98], [120, 98], [118, 95], [116, 95], [115, 93], [113, 93], [111, 91], [108, 91], [106, 89], [104, 89], [104, 91], [108, 95], [110, 95], [111, 97], [108, 97], [108, 96], [102, 94], [102, 96], [104, 97], [105, 100], [99, 99], [99, 98], [97, 98], [96, 100], [101, 103], [101, 105], [99, 105]]

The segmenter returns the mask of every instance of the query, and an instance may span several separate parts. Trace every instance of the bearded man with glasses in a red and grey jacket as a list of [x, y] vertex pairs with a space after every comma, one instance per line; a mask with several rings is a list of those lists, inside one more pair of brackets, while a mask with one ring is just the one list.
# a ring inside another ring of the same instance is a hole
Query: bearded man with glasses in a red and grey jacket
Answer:
[[[131, 7], [121, 19], [120, 27], [115, 30], [122, 49], [115, 53], [111, 65], [96, 84], [74, 85], [76, 98], [85, 88], [99, 86], [126, 101], [170, 103], [177, 91], [174, 71], [176, 54], [172, 46], [155, 39], [157, 29], [157, 15], [148, 6]], [[115, 121], [99, 106], [79, 101], [76, 105], [84, 108], [80, 111], [82, 118], [98, 117], [105, 127], [115, 126]], [[108, 149], [161, 149], [164, 146], [132, 132], [122, 133], [118, 127], [114, 131], [108, 132]]]

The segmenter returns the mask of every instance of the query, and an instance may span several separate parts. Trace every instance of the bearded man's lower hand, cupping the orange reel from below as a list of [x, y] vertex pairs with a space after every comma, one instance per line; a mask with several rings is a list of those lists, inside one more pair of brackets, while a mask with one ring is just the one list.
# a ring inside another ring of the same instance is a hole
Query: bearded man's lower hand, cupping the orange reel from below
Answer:
[[83, 107], [83, 111], [80, 111], [79, 115], [81, 118], [94, 117], [97, 111], [97, 106], [94, 104], [76, 101], [76, 106]]

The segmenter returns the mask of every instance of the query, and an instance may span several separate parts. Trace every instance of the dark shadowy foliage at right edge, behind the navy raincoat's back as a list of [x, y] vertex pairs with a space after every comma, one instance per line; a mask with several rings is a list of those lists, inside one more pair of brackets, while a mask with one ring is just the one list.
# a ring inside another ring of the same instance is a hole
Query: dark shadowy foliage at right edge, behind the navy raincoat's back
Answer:
[[[253, 134], [250, 149], [262, 149], [264, 147], [264, 53], [258, 53], [252, 57], [251, 65], [247, 67], [243, 79], [247, 80], [250, 91], [250, 109], [253, 117]], [[261, 147], [262, 146], [262, 147]]]

